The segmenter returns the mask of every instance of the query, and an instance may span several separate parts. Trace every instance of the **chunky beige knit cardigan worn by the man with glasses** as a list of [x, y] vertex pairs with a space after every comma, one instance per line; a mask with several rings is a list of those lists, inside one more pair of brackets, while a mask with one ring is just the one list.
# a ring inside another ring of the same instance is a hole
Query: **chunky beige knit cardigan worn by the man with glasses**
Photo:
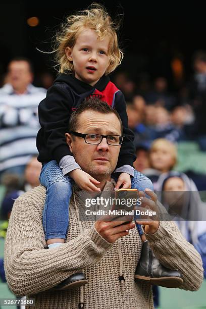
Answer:
[[[106, 188], [112, 191], [114, 183], [107, 182]], [[78, 210], [80, 196], [75, 187]], [[16, 295], [35, 298], [35, 308], [39, 309], [77, 309], [80, 291], [85, 309], [153, 308], [150, 285], [134, 281], [141, 254], [136, 228], [111, 244], [97, 233], [92, 222], [84, 221], [79, 226], [72, 196], [67, 242], [58, 248], [44, 249], [44, 200], [45, 188], [40, 185], [14, 203], [5, 243], [5, 271], [9, 287]], [[173, 222], [160, 222], [155, 234], [145, 235], [160, 261], [182, 272], [181, 288], [197, 290], [203, 278], [200, 255], [181, 236], [177, 226]], [[51, 290], [82, 270], [89, 281], [87, 285], [66, 291]], [[121, 272], [125, 281], [120, 282]]]

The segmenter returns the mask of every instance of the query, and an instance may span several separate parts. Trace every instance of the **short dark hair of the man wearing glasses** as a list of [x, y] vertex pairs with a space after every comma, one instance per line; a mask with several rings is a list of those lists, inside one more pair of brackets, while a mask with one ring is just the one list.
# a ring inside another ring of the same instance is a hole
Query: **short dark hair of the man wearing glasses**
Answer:
[[102, 114], [115, 114], [117, 118], [119, 119], [120, 125], [121, 125], [121, 134], [123, 133], [123, 126], [121, 118], [116, 110], [114, 110], [111, 106], [107, 104], [105, 101], [101, 101], [99, 98], [96, 97], [90, 97], [88, 99], [85, 99], [78, 108], [72, 113], [70, 120], [69, 120], [69, 126], [68, 126], [68, 132], [76, 131], [78, 125], [79, 125], [79, 116], [81, 113], [85, 111], [93, 111], [93, 112], [99, 112]]

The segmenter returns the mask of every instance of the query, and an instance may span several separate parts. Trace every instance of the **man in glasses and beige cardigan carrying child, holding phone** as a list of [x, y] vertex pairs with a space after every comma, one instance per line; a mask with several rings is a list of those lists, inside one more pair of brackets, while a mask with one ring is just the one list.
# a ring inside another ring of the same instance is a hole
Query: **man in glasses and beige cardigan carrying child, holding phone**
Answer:
[[[116, 111], [99, 100], [92, 104], [85, 102], [80, 114], [78, 109], [70, 119], [70, 133], [66, 134], [70, 151], [82, 170], [99, 180], [99, 188], [112, 193], [115, 183], [111, 173], [121, 145], [109, 145], [106, 136], [122, 135], [121, 120]], [[104, 136], [98, 144], [91, 144], [84, 135], [88, 133]], [[137, 181], [145, 179], [142, 174], [139, 176]], [[156, 194], [146, 192], [151, 200], [142, 192], [142, 206], [155, 209]], [[44, 187], [38, 186], [15, 201], [5, 243], [5, 270], [10, 289], [18, 296], [35, 298], [36, 308], [153, 308], [150, 285], [134, 281], [142, 247], [135, 224], [122, 225], [128, 218], [120, 222], [108, 221], [108, 217], [95, 223], [81, 222], [79, 212], [85, 208], [82, 196], [84, 192], [74, 185], [66, 243], [49, 250], [44, 249], [42, 226]], [[202, 263], [194, 247], [172, 222], [143, 224], [157, 258], [182, 273], [181, 288], [197, 290], [202, 282]], [[54, 289], [82, 271], [88, 284], [69, 290]]]

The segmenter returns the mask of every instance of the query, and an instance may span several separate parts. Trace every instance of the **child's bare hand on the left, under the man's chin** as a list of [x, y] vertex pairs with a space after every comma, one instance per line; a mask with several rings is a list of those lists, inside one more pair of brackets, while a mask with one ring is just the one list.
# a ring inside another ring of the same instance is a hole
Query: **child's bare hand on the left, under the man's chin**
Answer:
[[97, 188], [94, 184], [99, 184], [100, 182], [91, 177], [86, 172], [76, 169], [69, 173], [69, 176], [74, 179], [75, 183], [78, 185], [78, 187], [82, 190], [88, 191], [88, 192], [101, 192], [99, 188]]

